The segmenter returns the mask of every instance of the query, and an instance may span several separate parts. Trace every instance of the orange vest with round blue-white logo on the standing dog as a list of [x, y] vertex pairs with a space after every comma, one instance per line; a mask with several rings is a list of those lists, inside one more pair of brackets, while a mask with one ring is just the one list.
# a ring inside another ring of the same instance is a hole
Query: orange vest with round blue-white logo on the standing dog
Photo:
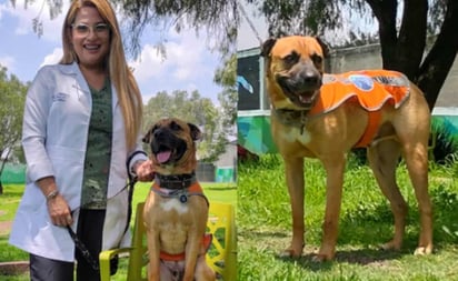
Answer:
[[409, 80], [397, 71], [350, 71], [325, 74], [322, 80], [319, 98], [307, 117], [330, 112], [347, 101], [358, 102], [369, 112], [369, 121], [355, 148], [367, 147], [372, 141], [380, 126], [380, 109], [385, 103], [399, 108], [410, 93]]

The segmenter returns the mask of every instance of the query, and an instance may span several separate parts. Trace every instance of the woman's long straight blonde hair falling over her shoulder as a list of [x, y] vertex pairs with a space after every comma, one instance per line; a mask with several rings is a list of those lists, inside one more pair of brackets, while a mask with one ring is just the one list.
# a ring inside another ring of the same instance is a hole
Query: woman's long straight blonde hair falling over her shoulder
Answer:
[[118, 20], [116, 19], [114, 11], [108, 0], [72, 1], [62, 28], [63, 56], [60, 63], [70, 64], [73, 61], [78, 61], [77, 54], [70, 42], [70, 32], [71, 24], [82, 7], [96, 8], [99, 11], [100, 17], [110, 27], [110, 51], [107, 59], [108, 71], [110, 80], [114, 84], [118, 93], [118, 100], [125, 120], [126, 144], [128, 149], [131, 150], [136, 145], [137, 136], [141, 129], [143, 103], [137, 81], [127, 64]]

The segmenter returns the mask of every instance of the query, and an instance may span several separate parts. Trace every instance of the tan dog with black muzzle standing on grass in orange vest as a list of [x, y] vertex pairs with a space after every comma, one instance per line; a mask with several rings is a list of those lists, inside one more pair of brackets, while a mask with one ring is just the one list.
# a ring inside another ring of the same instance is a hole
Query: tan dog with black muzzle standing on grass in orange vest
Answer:
[[[271, 132], [285, 160], [292, 209], [292, 240], [283, 254], [299, 257], [302, 253], [303, 158], [307, 157], [319, 159], [327, 172], [323, 235], [315, 260], [335, 257], [346, 153], [355, 147], [368, 148], [370, 167], [391, 204], [395, 233], [382, 248], [400, 249], [402, 244], [407, 204], [395, 175], [402, 153], [420, 212], [416, 253], [430, 253], [432, 218], [427, 151], [430, 112], [422, 92], [392, 71], [323, 74], [326, 53], [326, 46], [311, 37], [269, 39], [261, 50], [271, 102]], [[346, 87], [358, 89], [347, 96], [338, 93]], [[380, 88], [382, 92], [368, 94], [372, 88]], [[378, 97], [381, 103], [364, 101], [366, 98], [356, 92]], [[332, 96], [337, 104], [330, 104], [326, 100], [328, 96]], [[360, 106], [358, 100], [366, 106]], [[320, 111], [323, 108], [326, 110]]]

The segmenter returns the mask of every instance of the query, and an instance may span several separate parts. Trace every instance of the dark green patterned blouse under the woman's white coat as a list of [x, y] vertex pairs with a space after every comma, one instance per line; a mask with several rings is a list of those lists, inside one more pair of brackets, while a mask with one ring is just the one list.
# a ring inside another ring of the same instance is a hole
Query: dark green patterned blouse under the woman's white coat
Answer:
[[92, 112], [86, 149], [81, 208], [106, 209], [111, 159], [112, 98], [107, 79], [101, 90], [90, 89]]

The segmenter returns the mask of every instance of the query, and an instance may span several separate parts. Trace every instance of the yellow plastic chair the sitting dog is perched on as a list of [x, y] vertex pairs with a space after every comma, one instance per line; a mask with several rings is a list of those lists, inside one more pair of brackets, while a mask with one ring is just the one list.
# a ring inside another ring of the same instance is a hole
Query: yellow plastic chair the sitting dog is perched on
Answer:
[[[137, 204], [136, 221], [132, 232], [132, 245], [102, 251], [99, 255], [101, 281], [111, 280], [110, 259], [116, 254], [128, 255], [127, 281], [148, 280], [147, 277], [147, 244], [143, 225], [145, 202]], [[237, 280], [237, 235], [235, 210], [232, 204], [210, 202], [207, 231], [213, 240], [207, 253], [208, 264], [217, 272], [218, 280]]]

